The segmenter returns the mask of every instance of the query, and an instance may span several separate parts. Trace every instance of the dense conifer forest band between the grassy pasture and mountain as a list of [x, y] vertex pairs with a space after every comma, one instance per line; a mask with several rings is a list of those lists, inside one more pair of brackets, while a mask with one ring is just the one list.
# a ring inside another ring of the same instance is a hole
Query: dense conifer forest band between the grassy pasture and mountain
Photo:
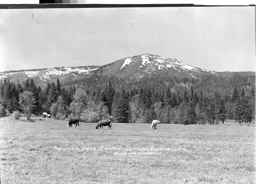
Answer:
[[[0, 82], [0, 115], [25, 112], [24, 93], [34, 101], [26, 114], [42, 112], [59, 118], [96, 122], [113, 116], [122, 123], [217, 123], [225, 119], [250, 122], [255, 118], [255, 75], [204, 75], [178, 78], [151, 75], [136, 80], [94, 74], [89, 78], [36, 87]], [[28, 95], [28, 93], [26, 94]], [[28, 108], [27, 108], [28, 109]]]

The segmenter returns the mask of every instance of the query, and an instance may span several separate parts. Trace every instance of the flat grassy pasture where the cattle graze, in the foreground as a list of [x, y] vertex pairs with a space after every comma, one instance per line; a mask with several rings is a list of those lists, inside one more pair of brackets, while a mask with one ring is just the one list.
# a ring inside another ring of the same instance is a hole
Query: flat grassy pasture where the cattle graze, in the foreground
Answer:
[[95, 126], [0, 121], [1, 183], [255, 183], [255, 124]]

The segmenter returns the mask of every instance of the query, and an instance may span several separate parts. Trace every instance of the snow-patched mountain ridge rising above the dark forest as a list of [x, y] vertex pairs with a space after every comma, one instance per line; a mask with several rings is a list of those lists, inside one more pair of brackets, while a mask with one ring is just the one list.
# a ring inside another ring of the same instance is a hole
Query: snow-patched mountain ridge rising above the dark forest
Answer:
[[23, 82], [27, 78], [33, 78], [37, 86], [44, 88], [47, 83], [75, 81], [89, 77], [92, 74], [115, 75], [120, 78], [141, 78], [153, 74], [167, 74], [177, 77], [193, 77], [200, 75], [232, 75], [234, 73], [255, 74], [255, 72], [216, 72], [185, 64], [176, 58], [164, 58], [158, 55], [142, 54], [117, 60], [113, 63], [101, 66], [78, 66], [78, 67], [54, 67], [44, 69], [31, 69], [20, 71], [0, 72], [0, 79], [9, 78], [11, 82]]

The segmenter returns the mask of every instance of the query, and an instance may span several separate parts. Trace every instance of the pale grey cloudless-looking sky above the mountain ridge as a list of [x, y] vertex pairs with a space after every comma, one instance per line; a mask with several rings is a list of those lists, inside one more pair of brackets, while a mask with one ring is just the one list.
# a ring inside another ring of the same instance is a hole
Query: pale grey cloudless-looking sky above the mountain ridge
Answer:
[[255, 71], [255, 7], [1, 9], [0, 71], [154, 54]]

